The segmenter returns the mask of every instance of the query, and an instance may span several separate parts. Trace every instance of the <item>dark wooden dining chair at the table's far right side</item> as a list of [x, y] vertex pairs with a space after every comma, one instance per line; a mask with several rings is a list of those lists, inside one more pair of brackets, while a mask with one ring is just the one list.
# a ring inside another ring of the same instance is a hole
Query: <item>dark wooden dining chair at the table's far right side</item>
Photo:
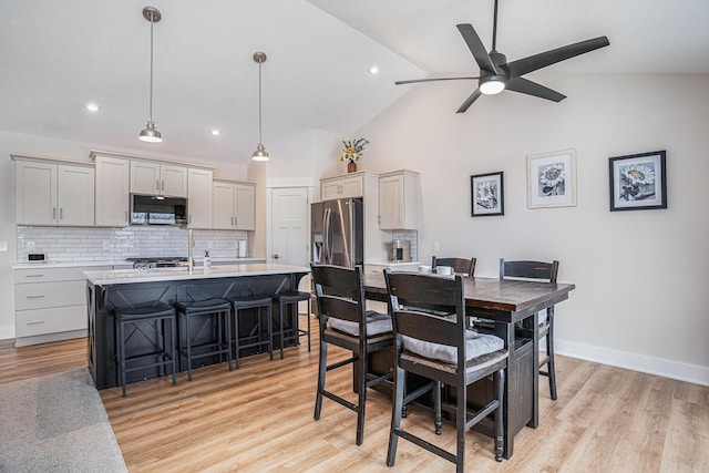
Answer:
[[[558, 261], [505, 261], [500, 258], [500, 279], [544, 280], [556, 284]], [[524, 328], [522, 328], [524, 330]], [[540, 374], [549, 379], [549, 394], [556, 401], [556, 370], [554, 363], [554, 306], [537, 315], [538, 339], [546, 339], [546, 354], [540, 359]], [[543, 370], [546, 366], [546, 370]]]

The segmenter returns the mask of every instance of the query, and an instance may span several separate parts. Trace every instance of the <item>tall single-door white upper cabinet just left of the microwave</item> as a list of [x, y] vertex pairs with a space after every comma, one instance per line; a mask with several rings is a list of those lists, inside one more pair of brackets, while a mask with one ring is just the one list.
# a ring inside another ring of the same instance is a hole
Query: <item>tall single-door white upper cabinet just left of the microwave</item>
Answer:
[[131, 161], [94, 155], [94, 162], [96, 164], [96, 226], [125, 227], [130, 224]]

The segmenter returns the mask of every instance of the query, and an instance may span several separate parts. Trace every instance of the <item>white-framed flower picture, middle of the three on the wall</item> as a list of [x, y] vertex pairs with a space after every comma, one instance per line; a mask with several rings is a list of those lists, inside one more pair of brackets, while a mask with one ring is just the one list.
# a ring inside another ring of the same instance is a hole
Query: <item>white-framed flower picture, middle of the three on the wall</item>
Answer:
[[576, 205], [576, 150], [527, 156], [527, 207]]

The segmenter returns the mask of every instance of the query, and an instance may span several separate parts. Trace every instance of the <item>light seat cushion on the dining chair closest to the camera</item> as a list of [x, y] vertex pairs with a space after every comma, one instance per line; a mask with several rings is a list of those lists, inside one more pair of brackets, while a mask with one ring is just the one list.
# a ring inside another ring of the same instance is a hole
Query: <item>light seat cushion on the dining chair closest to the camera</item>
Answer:
[[[458, 347], [433, 343], [403, 336], [403, 348], [412, 353], [445, 363], [458, 363]], [[465, 361], [482, 354], [492, 353], [504, 348], [504, 341], [494, 335], [479, 333], [474, 330], [465, 331]]]

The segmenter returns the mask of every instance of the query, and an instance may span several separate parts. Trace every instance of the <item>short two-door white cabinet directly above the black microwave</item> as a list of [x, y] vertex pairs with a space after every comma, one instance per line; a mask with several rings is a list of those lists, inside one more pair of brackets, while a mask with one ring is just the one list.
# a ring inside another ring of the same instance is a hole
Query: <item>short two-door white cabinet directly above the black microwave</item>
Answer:
[[187, 197], [187, 167], [131, 160], [131, 193]]

